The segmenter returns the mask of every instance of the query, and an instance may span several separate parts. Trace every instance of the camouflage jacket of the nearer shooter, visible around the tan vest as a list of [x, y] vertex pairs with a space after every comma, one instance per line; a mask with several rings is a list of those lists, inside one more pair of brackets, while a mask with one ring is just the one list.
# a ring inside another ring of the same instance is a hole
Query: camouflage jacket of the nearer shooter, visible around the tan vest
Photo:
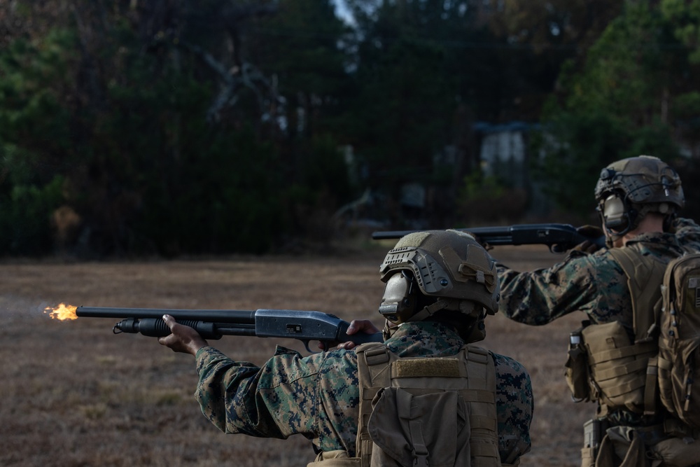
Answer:
[[[405, 323], [386, 341], [399, 356], [452, 356], [464, 342], [449, 326]], [[496, 363], [498, 440], [502, 459], [530, 450], [533, 396], [530, 377], [512, 358]], [[262, 368], [232, 361], [212, 347], [197, 352], [202, 413], [225, 433], [287, 438], [300, 433], [317, 449], [355, 454], [359, 387], [354, 351], [302, 358], [278, 347]]]

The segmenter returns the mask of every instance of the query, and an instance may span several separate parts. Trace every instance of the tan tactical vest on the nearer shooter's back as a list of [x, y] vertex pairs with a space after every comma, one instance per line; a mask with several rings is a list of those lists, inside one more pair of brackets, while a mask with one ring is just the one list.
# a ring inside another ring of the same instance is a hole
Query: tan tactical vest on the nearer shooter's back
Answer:
[[356, 456], [322, 452], [308, 467], [509, 465], [498, 452], [496, 368], [488, 351], [465, 345], [451, 357], [401, 358], [369, 343], [356, 352]]

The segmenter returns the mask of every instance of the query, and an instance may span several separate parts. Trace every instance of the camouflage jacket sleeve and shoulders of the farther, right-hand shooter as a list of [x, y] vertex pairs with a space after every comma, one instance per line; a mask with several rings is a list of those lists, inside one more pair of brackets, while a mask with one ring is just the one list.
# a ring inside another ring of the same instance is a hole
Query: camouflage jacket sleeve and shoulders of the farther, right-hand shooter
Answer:
[[[700, 251], [700, 227], [689, 219], [676, 219], [675, 233], [646, 233], [624, 248], [671, 260], [683, 249]], [[547, 269], [516, 272], [498, 268], [499, 310], [514, 321], [547, 324], [571, 312], [584, 312], [591, 323], [620, 321], [632, 327], [632, 305], [622, 267], [607, 249], [587, 254], [573, 251]]]

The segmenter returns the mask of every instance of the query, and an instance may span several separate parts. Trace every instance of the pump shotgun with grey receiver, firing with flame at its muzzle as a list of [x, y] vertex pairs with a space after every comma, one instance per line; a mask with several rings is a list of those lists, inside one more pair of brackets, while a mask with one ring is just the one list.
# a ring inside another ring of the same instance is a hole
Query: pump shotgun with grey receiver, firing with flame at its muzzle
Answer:
[[332, 342], [382, 342], [381, 333], [347, 335], [350, 323], [322, 312], [292, 309], [155, 309], [78, 307], [76, 315], [87, 318], [121, 319], [112, 328], [115, 334], [141, 333], [151, 337], [170, 334], [162, 316], [169, 314], [178, 323], [195, 328], [204, 339], [221, 339], [223, 335], [255, 337], [290, 337], [304, 343], [318, 340], [328, 349]]

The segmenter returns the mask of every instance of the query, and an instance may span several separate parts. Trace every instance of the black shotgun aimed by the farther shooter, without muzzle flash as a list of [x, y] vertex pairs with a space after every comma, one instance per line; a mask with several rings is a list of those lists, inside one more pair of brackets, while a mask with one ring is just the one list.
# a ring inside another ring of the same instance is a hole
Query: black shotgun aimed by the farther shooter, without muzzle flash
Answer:
[[[589, 226], [586, 226], [589, 230]], [[605, 235], [589, 237], [570, 224], [517, 224], [506, 227], [459, 228], [473, 234], [477, 241], [490, 246], [496, 245], [547, 245], [554, 253], [563, 253], [581, 242], [589, 241], [598, 246], [605, 246]], [[417, 230], [393, 230], [374, 232], [372, 239], [397, 239]]]

